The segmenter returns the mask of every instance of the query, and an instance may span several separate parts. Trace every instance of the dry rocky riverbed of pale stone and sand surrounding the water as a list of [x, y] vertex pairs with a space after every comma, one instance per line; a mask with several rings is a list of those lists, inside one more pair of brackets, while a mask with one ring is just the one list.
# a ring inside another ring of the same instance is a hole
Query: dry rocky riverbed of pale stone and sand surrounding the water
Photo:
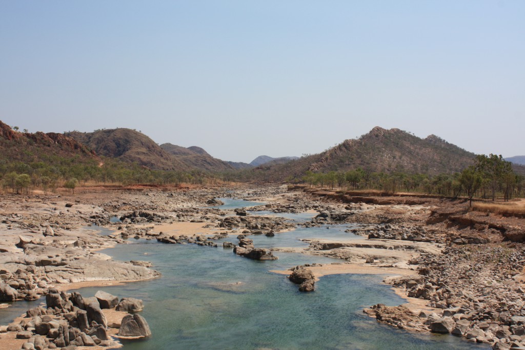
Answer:
[[[307, 240], [306, 248], [257, 248], [251, 235], [286, 235], [282, 232], [294, 229], [296, 224], [278, 214], [257, 216], [244, 210], [209, 207], [217, 204], [214, 198], [228, 196], [266, 203], [254, 210], [316, 213], [301, 224], [304, 227], [359, 224], [351, 231], [362, 239], [319, 237]], [[103, 289], [104, 285], [160, 277], [147, 261], [113, 261], [99, 253], [100, 249], [124, 244], [132, 237], [217, 246], [220, 238], [240, 233], [234, 251], [247, 258], [274, 259], [273, 253], [289, 251], [340, 259], [340, 263], [290, 267], [298, 271], [275, 271], [298, 277], [294, 282], [302, 283], [301, 290], [314, 290], [315, 280], [328, 274], [385, 275], [385, 283], [407, 303], [398, 307], [374, 305], [365, 310], [378, 321], [413, 331], [454, 333], [498, 349], [520, 346], [525, 340], [523, 219], [478, 215], [460, 201], [359, 197], [352, 202], [330, 191], [290, 191], [286, 186], [83, 188], [75, 196], [3, 195], [1, 199], [0, 299], [60, 295], [63, 305], [51, 306], [55, 311], [50, 311], [57, 319], [68, 320], [72, 317], [66, 315], [68, 312], [83, 310], [82, 302], [67, 290], [93, 285]], [[113, 220], [115, 216], [120, 220]], [[112, 232], [99, 236], [88, 225]], [[65, 307], [68, 302], [69, 309]], [[107, 319], [125, 315], [111, 312], [103, 310]], [[14, 331], [1, 328], [0, 348], [19, 349], [25, 342], [16, 339], [19, 332], [33, 332], [28, 339], [35, 343], [35, 320], [44, 322], [41, 314], [34, 314], [12, 323]], [[69, 320], [67, 326], [75, 322], [78, 326], [76, 320]], [[112, 324], [117, 325], [117, 321]], [[62, 328], [66, 327], [64, 322]], [[118, 327], [106, 329], [108, 339], [119, 332]], [[78, 336], [92, 335], [83, 332]], [[56, 346], [57, 338], [48, 337], [46, 346]], [[89, 343], [87, 338], [84, 341]]]

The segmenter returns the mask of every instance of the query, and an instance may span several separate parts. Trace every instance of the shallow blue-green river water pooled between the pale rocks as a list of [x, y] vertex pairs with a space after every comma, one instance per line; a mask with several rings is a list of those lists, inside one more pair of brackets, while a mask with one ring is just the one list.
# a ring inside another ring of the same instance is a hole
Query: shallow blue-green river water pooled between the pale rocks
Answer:
[[[344, 232], [346, 228], [348, 225], [302, 228], [271, 238], [250, 238], [256, 247], [297, 247], [307, 245], [299, 237], [353, 237]], [[124, 343], [124, 350], [489, 348], [451, 335], [396, 330], [366, 316], [363, 307], [404, 302], [381, 283], [381, 276], [329, 275], [316, 283], [316, 291], [301, 293], [284, 275], [269, 272], [337, 261], [334, 259], [276, 252], [279, 260], [254, 261], [222, 247], [132, 242], [102, 252], [117, 260], [151, 261], [162, 277], [103, 288], [119, 297], [144, 300], [141, 314], [153, 335], [148, 340]], [[79, 291], [92, 296], [97, 290]], [[5, 324], [5, 317], [0, 321]]]

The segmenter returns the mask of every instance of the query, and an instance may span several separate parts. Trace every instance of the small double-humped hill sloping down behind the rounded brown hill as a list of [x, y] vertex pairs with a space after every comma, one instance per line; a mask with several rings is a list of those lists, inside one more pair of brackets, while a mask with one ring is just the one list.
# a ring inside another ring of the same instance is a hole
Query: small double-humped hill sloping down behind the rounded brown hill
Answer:
[[197, 168], [209, 172], [224, 172], [234, 170], [234, 166], [208, 154], [201, 147], [181, 147], [171, 143], [163, 143], [161, 149], [171, 154], [177, 161], [187, 167]]

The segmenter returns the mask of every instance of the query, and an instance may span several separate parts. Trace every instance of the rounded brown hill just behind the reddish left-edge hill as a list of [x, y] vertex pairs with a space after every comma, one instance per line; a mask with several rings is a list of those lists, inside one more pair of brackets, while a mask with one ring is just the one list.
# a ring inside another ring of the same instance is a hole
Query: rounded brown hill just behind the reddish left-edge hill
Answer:
[[124, 162], [137, 162], [151, 169], [187, 170], [184, 163], [161, 149], [148, 136], [135, 130], [118, 128], [93, 132], [72, 131], [66, 135], [87, 145], [99, 155]]

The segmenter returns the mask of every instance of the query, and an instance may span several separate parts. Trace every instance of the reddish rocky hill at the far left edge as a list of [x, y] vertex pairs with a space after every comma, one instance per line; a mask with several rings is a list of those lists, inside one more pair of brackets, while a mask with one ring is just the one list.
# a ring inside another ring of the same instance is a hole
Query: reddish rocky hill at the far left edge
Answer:
[[0, 160], [41, 162], [51, 157], [99, 159], [89, 147], [66, 135], [40, 131], [22, 133], [0, 121]]

